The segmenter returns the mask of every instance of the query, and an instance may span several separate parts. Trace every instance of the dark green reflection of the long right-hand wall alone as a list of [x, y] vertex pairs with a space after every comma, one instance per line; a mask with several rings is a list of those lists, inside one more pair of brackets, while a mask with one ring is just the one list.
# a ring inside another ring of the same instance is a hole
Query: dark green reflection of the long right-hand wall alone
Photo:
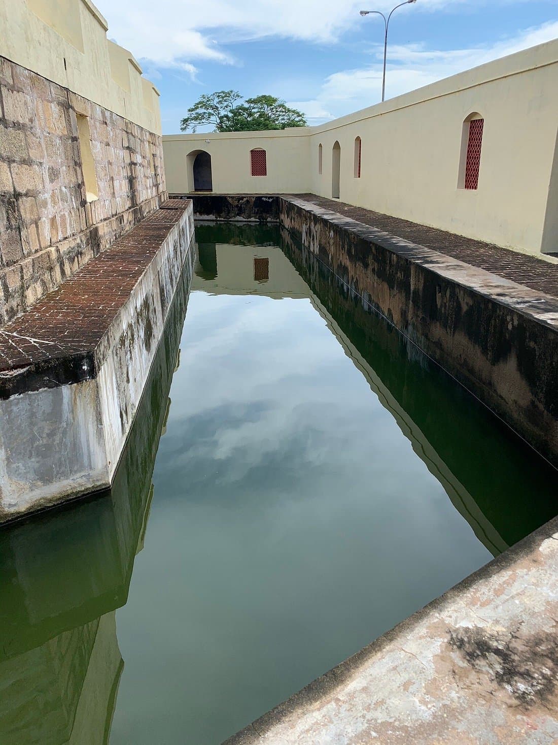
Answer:
[[[554, 518], [552, 466], [542, 458], [533, 465], [536, 457], [509, 428], [490, 421], [479, 402], [284, 228], [281, 249], [347, 357], [493, 556]], [[510, 462], [522, 466], [510, 469]]]

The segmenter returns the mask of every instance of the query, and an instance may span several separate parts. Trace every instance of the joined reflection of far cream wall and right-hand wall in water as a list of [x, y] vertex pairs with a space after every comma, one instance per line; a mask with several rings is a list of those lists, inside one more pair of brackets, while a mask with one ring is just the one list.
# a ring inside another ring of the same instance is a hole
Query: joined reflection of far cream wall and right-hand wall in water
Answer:
[[[556, 472], [285, 229], [198, 226], [196, 277], [215, 294], [308, 297], [478, 539], [496, 556], [554, 517]], [[253, 273], [257, 246], [269, 279]], [[203, 248], [202, 248], [203, 247]], [[286, 259], [289, 259], [286, 261]], [[348, 259], [347, 259], [348, 260]], [[208, 281], [211, 280], [211, 281]], [[194, 279], [196, 287], [197, 279]]]

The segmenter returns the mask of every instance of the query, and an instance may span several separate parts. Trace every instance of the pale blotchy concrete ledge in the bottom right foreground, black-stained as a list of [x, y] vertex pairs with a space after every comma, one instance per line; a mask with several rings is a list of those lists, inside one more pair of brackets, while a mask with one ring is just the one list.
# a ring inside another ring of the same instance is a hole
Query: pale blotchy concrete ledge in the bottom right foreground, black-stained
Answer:
[[225, 745], [558, 738], [558, 519]]

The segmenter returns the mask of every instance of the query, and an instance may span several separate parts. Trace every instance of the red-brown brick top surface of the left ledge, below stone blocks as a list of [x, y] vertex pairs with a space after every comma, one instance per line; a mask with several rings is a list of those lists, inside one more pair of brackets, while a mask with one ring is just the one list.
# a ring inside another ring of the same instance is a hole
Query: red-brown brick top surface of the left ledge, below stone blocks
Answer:
[[[0, 329], [0, 399], [23, 370], [61, 385], [91, 378], [94, 352], [190, 200], [165, 200], [70, 279]], [[29, 370], [31, 368], [31, 370]]]

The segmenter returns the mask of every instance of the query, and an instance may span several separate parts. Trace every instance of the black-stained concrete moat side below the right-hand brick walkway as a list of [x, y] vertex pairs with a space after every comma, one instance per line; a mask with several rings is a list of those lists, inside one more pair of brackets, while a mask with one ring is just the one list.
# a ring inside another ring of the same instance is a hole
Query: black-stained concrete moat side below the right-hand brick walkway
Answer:
[[558, 465], [558, 301], [296, 199], [281, 223]]

